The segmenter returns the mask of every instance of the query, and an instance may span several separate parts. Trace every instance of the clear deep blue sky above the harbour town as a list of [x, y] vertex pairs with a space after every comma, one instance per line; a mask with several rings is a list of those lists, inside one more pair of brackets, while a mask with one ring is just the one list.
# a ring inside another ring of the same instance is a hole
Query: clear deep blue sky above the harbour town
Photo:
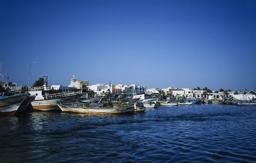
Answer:
[[26, 85], [36, 62], [30, 84], [48, 76], [67, 86], [75, 75], [90, 85], [256, 90], [255, 8], [255, 0], [1, 0], [2, 74]]

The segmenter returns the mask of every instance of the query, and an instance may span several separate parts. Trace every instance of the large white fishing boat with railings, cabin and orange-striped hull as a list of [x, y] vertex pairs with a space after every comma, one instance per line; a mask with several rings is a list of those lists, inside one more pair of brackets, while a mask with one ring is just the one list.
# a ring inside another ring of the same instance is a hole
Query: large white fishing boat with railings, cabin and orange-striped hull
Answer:
[[57, 101], [76, 101], [82, 96], [82, 90], [58, 93], [58, 90], [47, 86], [45, 76], [44, 85], [29, 88], [29, 93], [35, 95], [35, 100], [31, 104], [34, 110], [37, 111], [58, 110]]

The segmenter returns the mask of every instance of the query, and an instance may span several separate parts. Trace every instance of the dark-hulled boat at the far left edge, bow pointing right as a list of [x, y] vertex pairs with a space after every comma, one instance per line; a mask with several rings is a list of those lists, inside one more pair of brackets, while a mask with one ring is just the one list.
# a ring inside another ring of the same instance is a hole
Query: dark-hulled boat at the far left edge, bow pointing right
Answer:
[[27, 94], [18, 94], [9, 97], [0, 97], [0, 115], [15, 115], [16, 112], [25, 112], [26, 108], [35, 96]]

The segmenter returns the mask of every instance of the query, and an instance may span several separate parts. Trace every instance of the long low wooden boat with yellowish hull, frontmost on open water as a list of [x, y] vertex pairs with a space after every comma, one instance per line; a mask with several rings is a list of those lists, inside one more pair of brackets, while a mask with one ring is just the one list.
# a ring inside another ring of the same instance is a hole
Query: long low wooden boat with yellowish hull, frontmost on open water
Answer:
[[58, 107], [62, 112], [84, 113], [84, 114], [121, 114], [133, 113], [134, 104], [120, 105], [106, 103], [78, 103], [69, 101], [58, 101]]

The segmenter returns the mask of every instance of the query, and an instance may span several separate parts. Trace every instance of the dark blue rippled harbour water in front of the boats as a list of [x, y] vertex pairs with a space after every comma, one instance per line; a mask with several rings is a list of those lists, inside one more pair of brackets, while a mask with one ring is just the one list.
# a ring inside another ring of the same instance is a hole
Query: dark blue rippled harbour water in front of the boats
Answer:
[[0, 162], [256, 162], [256, 107], [0, 117]]

